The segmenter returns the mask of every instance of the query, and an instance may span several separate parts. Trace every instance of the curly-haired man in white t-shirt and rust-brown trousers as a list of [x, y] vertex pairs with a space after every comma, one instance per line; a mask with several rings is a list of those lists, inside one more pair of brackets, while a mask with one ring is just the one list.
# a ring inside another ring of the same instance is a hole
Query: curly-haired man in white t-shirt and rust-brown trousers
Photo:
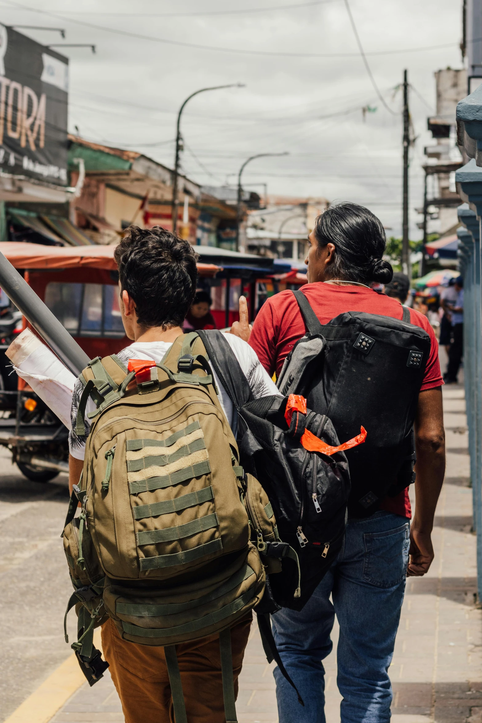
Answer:
[[[183, 334], [184, 319], [196, 293], [197, 254], [188, 241], [170, 231], [154, 228], [127, 229], [114, 252], [119, 267], [119, 307], [126, 335], [133, 343], [117, 355], [124, 364], [129, 359], [159, 363], [173, 341]], [[240, 338], [227, 334], [254, 398], [277, 393], [253, 349]], [[228, 423], [236, 420], [233, 404], [215, 376], [218, 398]], [[69, 482], [77, 484], [90, 432], [87, 403], [86, 434], [74, 432], [82, 393], [77, 381], [72, 399], [72, 431], [69, 435]], [[233, 677], [237, 691], [238, 675], [248, 641], [251, 612], [231, 628]], [[102, 626], [103, 654], [121, 698], [126, 723], [158, 723], [173, 720], [173, 703], [163, 647], [138, 645], [123, 640], [112, 620]], [[224, 723], [223, 680], [219, 633], [176, 646], [190, 723]]]

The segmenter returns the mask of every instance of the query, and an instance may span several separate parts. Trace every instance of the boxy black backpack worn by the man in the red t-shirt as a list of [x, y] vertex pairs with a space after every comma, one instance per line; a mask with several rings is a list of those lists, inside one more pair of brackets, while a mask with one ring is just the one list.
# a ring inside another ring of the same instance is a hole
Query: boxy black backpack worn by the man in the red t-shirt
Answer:
[[307, 333], [285, 359], [277, 380], [282, 394], [306, 397], [327, 414], [341, 440], [366, 428], [366, 442], [347, 451], [348, 514], [368, 517], [387, 495], [414, 480], [413, 422], [430, 354], [430, 337], [403, 320], [346, 312], [322, 325], [308, 299], [294, 291]]

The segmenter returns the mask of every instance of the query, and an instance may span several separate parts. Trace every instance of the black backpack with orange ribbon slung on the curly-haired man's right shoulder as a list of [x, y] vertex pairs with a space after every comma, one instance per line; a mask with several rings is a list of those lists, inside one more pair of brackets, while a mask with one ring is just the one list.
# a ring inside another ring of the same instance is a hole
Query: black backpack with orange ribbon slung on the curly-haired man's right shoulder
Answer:
[[[277, 607], [266, 612], [279, 607], [301, 609], [343, 543], [350, 493], [347, 458], [343, 452], [308, 452], [300, 442], [305, 429], [327, 445], [338, 446], [330, 419], [309, 410], [306, 414], [295, 411], [288, 427], [288, 397], [271, 395], [254, 400], [223, 334], [216, 330], [198, 333], [238, 412], [236, 437], [241, 464], [267, 493], [282, 544], [288, 543], [298, 555], [299, 569], [296, 560], [283, 556], [282, 574], [269, 576], [262, 604], [267, 605], [270, 597]], [[279, 552], [276, 557], [280, 557]], [[298, 586], [301, 594], [296, 593]]]

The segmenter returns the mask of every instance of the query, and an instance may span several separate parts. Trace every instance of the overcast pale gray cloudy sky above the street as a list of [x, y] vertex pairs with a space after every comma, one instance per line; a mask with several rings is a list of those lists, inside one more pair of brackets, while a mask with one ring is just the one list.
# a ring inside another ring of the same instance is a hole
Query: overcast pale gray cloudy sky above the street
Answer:
[[[461, 0], [349, 0], [371, 72], [369, 79], [345, 0], [0, 0], [5, 25], [66, 48], [69, 129], [173, 165], [176, 112], [201, 87], [182, 121], [183, 168], [208, 185], [236, 182], [262, 192], [353, 200], [401, 227], [401, 92], [407, 68], [418, 139], [410, 160], [412, 238], [423, 196], [423, 147], [431, 141], [434, 71], [462, 65]], [[375, 112], [366, 114], [361, 108]], [[259, 184], [259, 185], [257, 185]]]

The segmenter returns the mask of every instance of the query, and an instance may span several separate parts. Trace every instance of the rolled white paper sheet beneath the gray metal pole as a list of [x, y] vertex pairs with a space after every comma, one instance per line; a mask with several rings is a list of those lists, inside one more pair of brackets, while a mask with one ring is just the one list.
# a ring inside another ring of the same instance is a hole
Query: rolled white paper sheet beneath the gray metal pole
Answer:
[[24, 329], [5, 352], [19, 377], [51, 408], [67, 429], [75, 377], [30, 329]]

